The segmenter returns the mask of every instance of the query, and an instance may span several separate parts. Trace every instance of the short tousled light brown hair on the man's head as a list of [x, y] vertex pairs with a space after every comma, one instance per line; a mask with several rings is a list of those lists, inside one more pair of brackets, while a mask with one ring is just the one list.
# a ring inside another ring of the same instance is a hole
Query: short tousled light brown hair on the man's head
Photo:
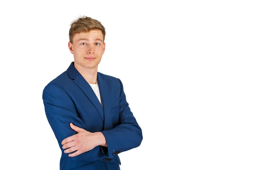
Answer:
[[69, 31], [70, 42], [73, 43], [73, 37], [75, 36], [75, 34], [78, 34], [81, 32], [90, 32], [91, 30], [96, 30], [96, 29], [102, 32], [103, 42], [104, 42], [106, 31], [102, 23], [91, 17], [80, 16], [70, 24], [70, 31]]

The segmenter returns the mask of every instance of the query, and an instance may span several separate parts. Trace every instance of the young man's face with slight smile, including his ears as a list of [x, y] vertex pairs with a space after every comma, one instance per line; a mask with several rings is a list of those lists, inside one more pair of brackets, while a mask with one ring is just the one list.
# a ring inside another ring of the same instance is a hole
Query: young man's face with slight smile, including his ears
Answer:
[[100, 30], [75, 34], [73, 44], [68, 43], [70, 52], [74, 55], [75, 64], [87, 69], [98, 68], [105, 51], [105, 43], [102, 41], [103, 35]]

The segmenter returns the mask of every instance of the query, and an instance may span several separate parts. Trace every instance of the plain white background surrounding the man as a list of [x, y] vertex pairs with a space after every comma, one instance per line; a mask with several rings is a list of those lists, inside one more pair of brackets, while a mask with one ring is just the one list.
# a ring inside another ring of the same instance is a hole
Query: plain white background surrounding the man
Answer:
[[58, 170], [42, 92], [73, 61], [70, 23], [106, 28], [98, 71], [143, 130], [121, 170], [256, 169], [256, 5], [248, 0], [1, 1], [1, 170]]

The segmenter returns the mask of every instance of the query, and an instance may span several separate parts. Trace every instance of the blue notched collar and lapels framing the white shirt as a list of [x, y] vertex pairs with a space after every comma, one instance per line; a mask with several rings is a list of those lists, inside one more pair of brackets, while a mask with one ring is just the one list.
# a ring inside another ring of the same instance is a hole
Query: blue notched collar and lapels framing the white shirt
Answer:
[[[74, 81], [74, 83], [79, 86], [79, 88], [84, 92], [84, 94], [87, 96], [87, 98], [92, 102], [92, 104], [96, 107], [96, 109], [98, 110], [102, 121], [104, 121], [104, 110], [102, 108], [102, 105], [99, 102], [99, 99], [97, 98], [95, 92], [93, 91], [93, 89], [91, 88], [90, 84], [88, 84], [88, 82], [83, 78], [83, 76], [77, 71], [77, 69], [74, 66], [74, 62], [72, 62], [69, 66], [69, 68], [67, 69], [67, 73], [69, 75], [70, 78], [72, 78]], [[104, 100], [104, 95], [105, 95], [105, 88], [104, 86], [106, 85], [106, 82], [99, 76], [99, 72], [97, 73], [97, 81], [98, 81], [98, 85], [99, 85], [99, 91], [100, 91], [100, 95], [102, 98], [102, 102], [103, 102], [103, 107], [105, 107], [104, 102], [106, 100]]]

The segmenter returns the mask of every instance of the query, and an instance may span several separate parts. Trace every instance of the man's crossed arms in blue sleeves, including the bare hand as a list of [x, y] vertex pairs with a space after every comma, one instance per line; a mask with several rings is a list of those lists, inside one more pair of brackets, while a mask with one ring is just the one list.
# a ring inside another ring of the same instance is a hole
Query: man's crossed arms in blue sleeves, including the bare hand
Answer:
[[[84, 122], [78, 116], [72, 99], [61, 87], [48, 84], [44, 88], [43, 101], [47, 120], [61, 151], [66, 156], [70, 156], [73, 160], [86, 161], [93, 157], [92, 154], [97, 155], [95, 152], [90, 152], [97, 147], [107, 147], [107, 153], [104, 154], [111, 157], [116, 154], [116, 150], [120, 153], [140, 146], [143, 140], [142, 130], [128, 106], [122, 82], [120, 80], [119, 82], [121, 87], [119, 124], [111, 130], [96, 133], [85, 130]], [[113, 138], [114, 136], [118, 138]], [[73, 151], [76, 152], [70, 154]]]

